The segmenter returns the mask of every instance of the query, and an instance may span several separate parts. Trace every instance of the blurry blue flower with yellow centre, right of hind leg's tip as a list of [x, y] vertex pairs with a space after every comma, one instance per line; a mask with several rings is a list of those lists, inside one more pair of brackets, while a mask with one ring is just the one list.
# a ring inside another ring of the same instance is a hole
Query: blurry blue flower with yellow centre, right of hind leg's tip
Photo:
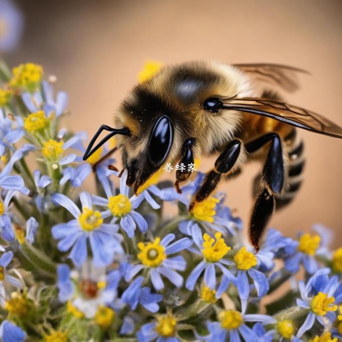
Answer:
[[294, 240], [285, 247], [285, 252], [289, 255], [285, 259], [285, 268], [291, 273], [296, 273], [303, 264], [309, 274], [315, 273], [318, 270], [315, 255], [320, 248], [320, 243], [319, 235], [299, 234], [298, 241]]

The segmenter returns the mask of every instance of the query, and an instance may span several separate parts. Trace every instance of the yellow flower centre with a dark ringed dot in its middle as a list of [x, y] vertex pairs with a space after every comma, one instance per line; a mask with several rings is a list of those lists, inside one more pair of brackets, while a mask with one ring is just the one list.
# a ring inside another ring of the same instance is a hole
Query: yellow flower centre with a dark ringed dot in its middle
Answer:
[[141, 250], [138, 258], [143, 265], [157, 267], [166, 259], [165, 247], [159, 242], [160, 237], [156, 237], [153, 242], [147, 242], [146, 244], [143, 242], [138, 243], [138, 248]]

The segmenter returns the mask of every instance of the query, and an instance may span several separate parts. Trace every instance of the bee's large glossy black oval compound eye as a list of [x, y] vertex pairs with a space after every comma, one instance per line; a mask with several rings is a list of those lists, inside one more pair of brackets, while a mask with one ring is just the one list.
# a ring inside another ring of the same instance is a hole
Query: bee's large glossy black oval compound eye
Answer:
[[161, 116], [152, 128], [147, 157], [151, 165], [160, 166], [166, 159], [174, 140], [174, 127], [168, 116]]

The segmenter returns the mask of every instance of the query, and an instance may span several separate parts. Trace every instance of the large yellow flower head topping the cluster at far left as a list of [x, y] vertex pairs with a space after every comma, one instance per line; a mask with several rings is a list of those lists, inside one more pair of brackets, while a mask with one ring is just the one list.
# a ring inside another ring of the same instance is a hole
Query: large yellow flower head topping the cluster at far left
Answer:
[[20, 64], [13, 68], [13, 78], [10, 81], [11, 87], [27, 88], [33, 92], [43, 75], [43, 68], [33, 63]]

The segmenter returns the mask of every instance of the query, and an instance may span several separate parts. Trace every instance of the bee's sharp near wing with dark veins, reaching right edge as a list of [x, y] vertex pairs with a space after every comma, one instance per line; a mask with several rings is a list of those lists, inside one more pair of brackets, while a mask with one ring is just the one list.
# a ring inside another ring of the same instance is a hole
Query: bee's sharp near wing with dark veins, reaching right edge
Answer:
[[341, 127], [304, 108], [263, 98], [232, 99], [223, 103], [222, 109], [267, 116], [315, 133], [342, 138]]

